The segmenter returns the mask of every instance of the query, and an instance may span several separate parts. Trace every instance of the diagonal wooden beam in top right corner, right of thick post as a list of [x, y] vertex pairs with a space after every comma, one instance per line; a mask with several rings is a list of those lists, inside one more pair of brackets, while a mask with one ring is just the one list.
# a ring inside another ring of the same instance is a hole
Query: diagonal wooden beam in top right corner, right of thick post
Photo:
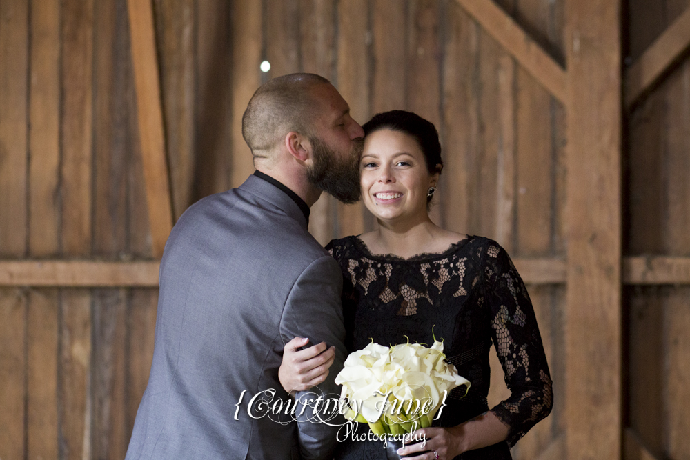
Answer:
[[625, 72], [625, 106], [651, 91], [690, 48], [690, 7]]

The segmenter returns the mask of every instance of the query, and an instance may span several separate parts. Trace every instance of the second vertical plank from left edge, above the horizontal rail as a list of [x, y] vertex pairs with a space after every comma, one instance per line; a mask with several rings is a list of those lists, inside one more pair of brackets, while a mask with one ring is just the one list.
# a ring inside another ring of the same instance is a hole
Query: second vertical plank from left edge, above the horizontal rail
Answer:
[[31, 8], [29, 134], [29, 251], [59, 251], [60, 4], [43, 1]]

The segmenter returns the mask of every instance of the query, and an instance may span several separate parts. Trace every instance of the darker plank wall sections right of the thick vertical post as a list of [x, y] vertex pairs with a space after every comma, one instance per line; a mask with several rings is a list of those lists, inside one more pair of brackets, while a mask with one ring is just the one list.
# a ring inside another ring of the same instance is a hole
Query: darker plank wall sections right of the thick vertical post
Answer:
[[[627, 63], [690, 8], [687, 0], [627, 1]], [[690, 59], [626, 113], [624, 253], [690, 256]], [[624, 290], [630, 438], [658, 459], [690, 456], [690, 288]], [[631, 446], [627, 446], [630, 450]], [[631, 457], [633, 458], [633, 457]], [[636, 458], [636, 457], [635, 457]]]

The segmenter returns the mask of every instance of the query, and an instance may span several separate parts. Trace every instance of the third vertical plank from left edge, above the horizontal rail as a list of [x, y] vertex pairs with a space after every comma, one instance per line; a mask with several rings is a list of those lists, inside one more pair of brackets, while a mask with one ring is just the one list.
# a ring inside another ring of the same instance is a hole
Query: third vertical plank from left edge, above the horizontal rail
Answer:
[[61, 3], [63, 254], [91, 249], [93, 0]]

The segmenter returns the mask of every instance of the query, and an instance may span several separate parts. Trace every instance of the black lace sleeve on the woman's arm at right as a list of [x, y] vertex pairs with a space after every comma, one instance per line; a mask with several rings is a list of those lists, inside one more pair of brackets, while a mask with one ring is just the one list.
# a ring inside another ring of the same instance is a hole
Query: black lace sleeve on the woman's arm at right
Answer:
[[491, 242], [484, 254], [484, 298], [491, 314], [493, 343], [511, 397], [491, 411], [509, 426], [514, 446], [549, 415], [553, 392], [549, 366], [529, 294], [507, 252]]

